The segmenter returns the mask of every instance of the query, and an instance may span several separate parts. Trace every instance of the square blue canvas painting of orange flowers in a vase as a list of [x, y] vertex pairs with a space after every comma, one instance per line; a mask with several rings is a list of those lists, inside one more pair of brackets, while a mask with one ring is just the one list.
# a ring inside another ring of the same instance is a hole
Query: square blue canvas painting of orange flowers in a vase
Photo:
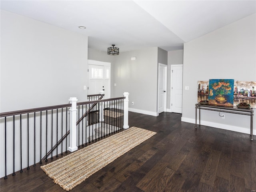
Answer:
[[209, 104], [233, 106], [234, 79], [209, 80]]

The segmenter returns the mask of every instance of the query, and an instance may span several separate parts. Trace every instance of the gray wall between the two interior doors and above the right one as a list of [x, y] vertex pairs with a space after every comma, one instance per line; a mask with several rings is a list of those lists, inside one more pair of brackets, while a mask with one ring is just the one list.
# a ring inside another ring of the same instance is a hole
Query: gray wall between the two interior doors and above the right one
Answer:
[[183, 65], [183, 50], [168, 51], [167, 109], [171, 108], [171, 66]]

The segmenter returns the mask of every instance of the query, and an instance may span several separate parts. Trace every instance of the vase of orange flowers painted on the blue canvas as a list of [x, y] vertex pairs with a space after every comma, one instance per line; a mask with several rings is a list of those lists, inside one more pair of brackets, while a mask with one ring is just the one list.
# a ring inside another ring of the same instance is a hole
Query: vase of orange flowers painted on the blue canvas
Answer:
[[210, 96], [214, 96], [214, 99], [219, 104], [225, 104], [227, 102], [227, 95], [231, 94], [232, 84], [228, 80], [219, 80], [211, 84]]

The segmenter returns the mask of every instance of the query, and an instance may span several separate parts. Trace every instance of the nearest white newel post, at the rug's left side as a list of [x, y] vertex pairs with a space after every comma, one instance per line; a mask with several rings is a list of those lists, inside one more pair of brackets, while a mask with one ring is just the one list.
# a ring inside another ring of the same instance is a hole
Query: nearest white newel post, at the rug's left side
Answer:
[[68, 150], [73, 152], [78, 150], [76, 146], [76, 97], [70, 97], [70, 103], [72, 104], [69, 111], [70, 111], [70, 131], [69, 131], [69, 147]]

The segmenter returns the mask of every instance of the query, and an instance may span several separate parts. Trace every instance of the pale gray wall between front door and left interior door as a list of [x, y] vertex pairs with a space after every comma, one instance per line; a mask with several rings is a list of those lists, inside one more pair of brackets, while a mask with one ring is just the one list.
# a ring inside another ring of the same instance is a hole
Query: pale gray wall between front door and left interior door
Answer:
[[[131, 60], [136, 57], [136, 60]], [[156, 114], [158, 48], [122, 52], [116, 56], [112, 71], [112, 96], [129, 92], [129, 108]], [[132, 105], [134, 102], [134, 105]]]

